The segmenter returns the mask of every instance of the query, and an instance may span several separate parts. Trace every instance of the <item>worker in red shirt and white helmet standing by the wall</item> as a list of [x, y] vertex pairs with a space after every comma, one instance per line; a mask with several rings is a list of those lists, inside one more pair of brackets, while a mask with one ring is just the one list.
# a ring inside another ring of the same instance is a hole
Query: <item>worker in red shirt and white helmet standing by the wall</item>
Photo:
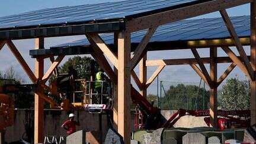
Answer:
[[66, 130], [66, 133], [68, 135], [71, 135], [72, 133], [76, 132], [76, 126], [80, 126], [79, 120], [76, 122], [75, 120], [75, 114], [71, 113], [69, 114], [69, 119], [66, 120], [62, 124], [62, 128]]

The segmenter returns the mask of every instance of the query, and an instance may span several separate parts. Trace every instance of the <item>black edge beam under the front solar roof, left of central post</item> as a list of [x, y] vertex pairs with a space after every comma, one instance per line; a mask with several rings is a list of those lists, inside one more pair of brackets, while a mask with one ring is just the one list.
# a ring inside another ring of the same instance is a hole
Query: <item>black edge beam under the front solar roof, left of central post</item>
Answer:
[[74, 36], [85, 33], [107, 33], [125, 29], [124, 21], [79, 25], [60, 25], [55, 27], [24, 28], [0, 30], [0, 40], [33, 39], [37, 37]]

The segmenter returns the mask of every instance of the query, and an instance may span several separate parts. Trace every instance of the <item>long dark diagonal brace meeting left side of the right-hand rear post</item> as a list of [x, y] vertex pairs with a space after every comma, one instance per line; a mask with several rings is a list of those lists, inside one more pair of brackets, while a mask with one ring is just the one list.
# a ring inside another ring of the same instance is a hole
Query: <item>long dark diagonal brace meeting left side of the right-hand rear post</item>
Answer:
[[210, 87], [212, 87], [212, 82], [210, 80], [209, 73], [207, 72], [203, 60], [201, 60], [199, 53], [197, 52], [196, 49], [191, 49], [191, 52], [193, 53], [194, 57], [197, 60], [197, 63], [199, 64], [199, 67], [201, 69], [201, 72], [203, 73], [204, 77], [206, 78], [207, 84], [209, 84]]

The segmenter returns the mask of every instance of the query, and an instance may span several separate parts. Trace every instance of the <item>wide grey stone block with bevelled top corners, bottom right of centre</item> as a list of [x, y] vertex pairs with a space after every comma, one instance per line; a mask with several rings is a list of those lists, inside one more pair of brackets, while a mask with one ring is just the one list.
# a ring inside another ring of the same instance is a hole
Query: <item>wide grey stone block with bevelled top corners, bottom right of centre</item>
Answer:
[[187, 133], [183, 136], [183, 144], [206, 144], [206, 136], [201, 133]]

